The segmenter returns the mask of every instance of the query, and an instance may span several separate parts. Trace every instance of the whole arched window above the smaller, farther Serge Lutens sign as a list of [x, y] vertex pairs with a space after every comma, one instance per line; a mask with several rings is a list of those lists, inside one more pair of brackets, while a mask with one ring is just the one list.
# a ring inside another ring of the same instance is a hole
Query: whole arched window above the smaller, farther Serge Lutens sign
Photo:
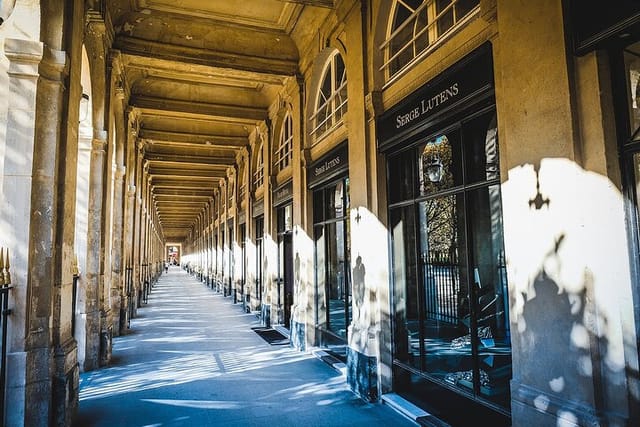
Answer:
[[340, 123], [347, 112], [347, 70], [338, 51], [329, 58], [321, 82], [316, 108], [311, 116], [311, 134], [316, 138]]

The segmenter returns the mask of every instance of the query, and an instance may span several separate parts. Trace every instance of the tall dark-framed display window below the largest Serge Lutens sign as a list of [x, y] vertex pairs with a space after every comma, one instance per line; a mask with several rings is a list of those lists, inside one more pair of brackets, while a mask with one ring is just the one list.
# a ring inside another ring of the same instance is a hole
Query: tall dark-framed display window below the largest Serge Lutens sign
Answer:
[[491, 106], [388, 157], [394, 380], [423, 378], [508, 413], [496, 129]]

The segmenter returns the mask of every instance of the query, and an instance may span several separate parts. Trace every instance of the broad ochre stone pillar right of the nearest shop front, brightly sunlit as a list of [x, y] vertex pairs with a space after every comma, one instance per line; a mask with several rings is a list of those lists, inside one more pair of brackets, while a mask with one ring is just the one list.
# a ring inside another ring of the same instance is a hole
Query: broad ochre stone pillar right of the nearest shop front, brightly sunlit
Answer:
[[572, 56], [559, 2], [526, 20], [523, 2], [497, 3], [512, 423], [630, 425], [638, 341], [610, 62]]

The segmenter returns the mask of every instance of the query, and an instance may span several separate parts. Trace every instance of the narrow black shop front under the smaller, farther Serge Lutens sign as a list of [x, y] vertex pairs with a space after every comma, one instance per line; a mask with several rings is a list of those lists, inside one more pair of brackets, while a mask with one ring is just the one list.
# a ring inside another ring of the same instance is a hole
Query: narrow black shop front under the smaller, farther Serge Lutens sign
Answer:
[[307, 170], [313, 192], [315, 327], [319, 345], [346, 357], [351, 323], [349, 274], [348, 145], [324, 155]]

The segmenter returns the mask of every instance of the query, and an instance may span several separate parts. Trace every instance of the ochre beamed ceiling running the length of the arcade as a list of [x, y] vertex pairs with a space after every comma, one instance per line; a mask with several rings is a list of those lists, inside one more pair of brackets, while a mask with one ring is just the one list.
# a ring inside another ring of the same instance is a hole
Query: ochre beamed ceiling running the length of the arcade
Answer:
[[290, 78], [333, 0], [110, 0], [155, 208], [181, 242]]

